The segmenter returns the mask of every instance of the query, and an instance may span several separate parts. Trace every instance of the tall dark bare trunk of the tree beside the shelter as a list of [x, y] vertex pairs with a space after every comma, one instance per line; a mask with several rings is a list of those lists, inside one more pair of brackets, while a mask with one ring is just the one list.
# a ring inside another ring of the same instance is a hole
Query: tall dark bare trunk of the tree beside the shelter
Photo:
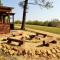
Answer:
[[22, 18], [21, 30], [25, 29], [25, 20], [26, 20], [27, 5], [28, 5], [28, 0], [25, 0], [24, 1], [24, 7], [23, 7], [23, 18]]

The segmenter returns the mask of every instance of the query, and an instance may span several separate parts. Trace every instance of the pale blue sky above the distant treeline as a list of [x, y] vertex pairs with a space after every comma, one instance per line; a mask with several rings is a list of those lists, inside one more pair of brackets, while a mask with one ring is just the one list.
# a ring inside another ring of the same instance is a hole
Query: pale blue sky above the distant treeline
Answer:
[[[15, 13], [15, 20], [22, 20], [23, 16], [23, 9], [18, 5], [19, 1], [21, 0], [2, 0], [4, 6], [14, 8], [13, 12]], [[53, 6], [53, 8], [46, 9], [36, 5], [29, 5], [26, 20], [46, 21], [55, 18], [60, 19], [60, 0], [55, 0]]]

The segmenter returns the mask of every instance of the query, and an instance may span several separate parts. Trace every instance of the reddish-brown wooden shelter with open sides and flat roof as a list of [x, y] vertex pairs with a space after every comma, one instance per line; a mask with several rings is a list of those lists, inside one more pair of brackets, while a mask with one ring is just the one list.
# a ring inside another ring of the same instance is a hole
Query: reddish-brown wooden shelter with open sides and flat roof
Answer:
[[0, 34], [9, 33], [10, 29], [14, 29], [14, 13], [12, 13], [12, 9], [12, 7], [0, 6]]

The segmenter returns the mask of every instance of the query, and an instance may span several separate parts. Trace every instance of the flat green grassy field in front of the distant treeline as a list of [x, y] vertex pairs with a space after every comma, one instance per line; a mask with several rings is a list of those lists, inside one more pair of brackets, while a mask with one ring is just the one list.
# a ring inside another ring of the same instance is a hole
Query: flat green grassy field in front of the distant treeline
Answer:
[[[21, 26], [21, 25], [15, 25], [15, 26]], [[42, 31], [51, 32], [51, 33], [55, 33], [55, 34], [60, 34], [60, 28], [57, 28], [57, 27], [26, 25], [26, 28], [31, 28], [31, 29], [35, 29], [35, 30], [42, 30]]]

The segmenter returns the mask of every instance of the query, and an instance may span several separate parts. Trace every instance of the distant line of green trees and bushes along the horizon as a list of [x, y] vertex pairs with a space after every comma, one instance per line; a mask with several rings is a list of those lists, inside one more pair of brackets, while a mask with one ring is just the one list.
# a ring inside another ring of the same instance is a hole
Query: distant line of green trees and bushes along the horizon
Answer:
[[[15, 24], [21, 24], [21, 21], [15, 21]], [[39, 26], [49, 26], [49, 27], [60, 27], [60, 21], [58, 19], [54, 19], [51, 21], [27, 21], [26, 24], [29, 25], [39, 25]]]

